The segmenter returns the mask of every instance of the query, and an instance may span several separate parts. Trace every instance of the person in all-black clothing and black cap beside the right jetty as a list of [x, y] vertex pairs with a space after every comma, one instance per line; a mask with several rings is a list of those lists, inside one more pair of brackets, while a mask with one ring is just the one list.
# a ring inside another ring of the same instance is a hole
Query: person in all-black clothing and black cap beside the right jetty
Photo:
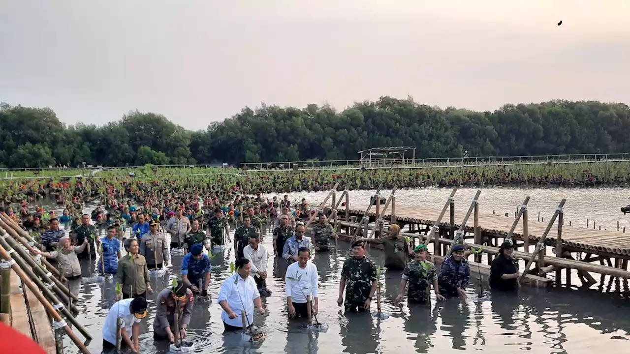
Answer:
[[490, 266], [490, 288], [505, 292], [518, 290], [518, 263], [512, 257], [514, 246], [512, 242], [505, 241], [501, 244], [499, 255]]

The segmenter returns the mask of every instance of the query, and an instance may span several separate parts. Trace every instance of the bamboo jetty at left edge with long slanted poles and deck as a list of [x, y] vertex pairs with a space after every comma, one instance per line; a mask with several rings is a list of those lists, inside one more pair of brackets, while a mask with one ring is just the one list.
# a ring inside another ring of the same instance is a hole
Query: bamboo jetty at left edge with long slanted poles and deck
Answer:
[[92, 338], [74, 317], [78, 299], [62, 283], [59, 270], [35, 253], [36, 248], [40, 246], [33, 237], [0, 212], [0, 319], [47, 353], [62, 353], [62, 334], [66, 334], [81, 353], [89, 354], [86, 345]]

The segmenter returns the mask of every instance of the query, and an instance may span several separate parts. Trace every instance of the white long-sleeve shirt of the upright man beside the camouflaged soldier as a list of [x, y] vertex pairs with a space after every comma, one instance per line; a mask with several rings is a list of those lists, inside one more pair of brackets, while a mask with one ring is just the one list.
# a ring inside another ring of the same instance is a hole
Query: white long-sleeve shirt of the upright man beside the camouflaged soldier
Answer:
[[315, 263], [308, 261], [306, 267], [300, 268], [299, 262], [295, 262], [287, 267], [285, 294], [287, 297], [290, 296], [295, 304], [306, 304], [308, 295], [311, 295], [313, 299], [318, 297], [317, 283], [318, 273]]

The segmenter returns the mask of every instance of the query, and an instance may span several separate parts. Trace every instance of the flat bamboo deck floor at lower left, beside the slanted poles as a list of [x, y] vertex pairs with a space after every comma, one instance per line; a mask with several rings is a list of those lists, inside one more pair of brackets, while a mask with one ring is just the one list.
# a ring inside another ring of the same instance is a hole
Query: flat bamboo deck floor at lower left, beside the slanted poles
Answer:
[[14, 271], [11, 271], [11, 326], [38, 343], [47, 353], [57, 352], [54, 332], [46, 310], [28, 288], [25, 300], [20, 277]]

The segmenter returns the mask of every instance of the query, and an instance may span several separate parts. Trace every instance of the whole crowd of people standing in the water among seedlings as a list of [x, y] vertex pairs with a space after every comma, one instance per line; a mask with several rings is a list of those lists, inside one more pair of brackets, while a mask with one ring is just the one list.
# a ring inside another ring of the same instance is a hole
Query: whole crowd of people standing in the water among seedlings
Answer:
[[[250, 196], [239, 193], [238, 186], [184, 190], [178, 185], [125, 183], [122, 188], [106, 190], [104, 207], [84, 214], [83, 202], [95, 197], [89, 193], [91, 183], [87, 180], [82, 188], [72, 189], [71, 202], [59, 216], [30, 207], [29, 200], [21, 200], [16, 208], [5, 203], [4, 210], [36, 237], [45, 249], [42, 256], [56, 261], [64, 277], [81, 277], [79, 258], [95, 258], [98, 271], [115, 279], [120, 292], [103, 326], [105, 350], [116, 346], [118, 317], [123, 319], [122, 345], [133, 352], [140, 350], [139, 323], [147, 316], [147, 294], [154, 293], [149, 271], [168, 266], [171, 254], [183, 255], [181, 274], [157, 295], [153, 324], [157, 341], [185, 339], [195, 299], [211, 295], [222, 307], [225, 331], [239, 331], [243, 324], [252, 326], [255, 309], [264, 315], [262, 300], [272, 295], [266, 283], [272, 257], [288, 265], [284, 287], [287, 316], [309, 318], [320, 311], [318, 268], [311, 258], [316, 252], [329, 252], [338, 238], [327, 210], [311, 208], [306, 199], [294, 203], [288, 195], [282, 199], [267, 198], [260, 192]], [[60, 222], [69, 225], [69, 236], [60, 229]], [[314, 224], [307, 230], [310, 222]], [[382, 245], [387, 271], [401, 271], [397, 302], [406, 294], [408, 304], [427, 304], [430, 291], [437, 300], [467, 297], [471, 267], [465, 246], [455, 245], [438, 270], [428, 260], [427, 247], [418, 244], [412, 249], [400, 232], [392, 224], [382, 237], [359, 236], [353, 241], [352, 257], [343, 263], [339, 282], [337, 303], [345, 311], [367, 312], [374, 300], [377, 265], [365, 256], [367, 244]], [[210, 257], [230, 247], [234, 249], [234, 273], [224, 280], [218, 294], [209, 294]], [[518, 268], [512, 250], [511, 244], [501, 245], [501, 254], [491, 268], [491, 288], [517, 290]], [[173, 316], [176, 312], [181, 315], [178, 323]]]

